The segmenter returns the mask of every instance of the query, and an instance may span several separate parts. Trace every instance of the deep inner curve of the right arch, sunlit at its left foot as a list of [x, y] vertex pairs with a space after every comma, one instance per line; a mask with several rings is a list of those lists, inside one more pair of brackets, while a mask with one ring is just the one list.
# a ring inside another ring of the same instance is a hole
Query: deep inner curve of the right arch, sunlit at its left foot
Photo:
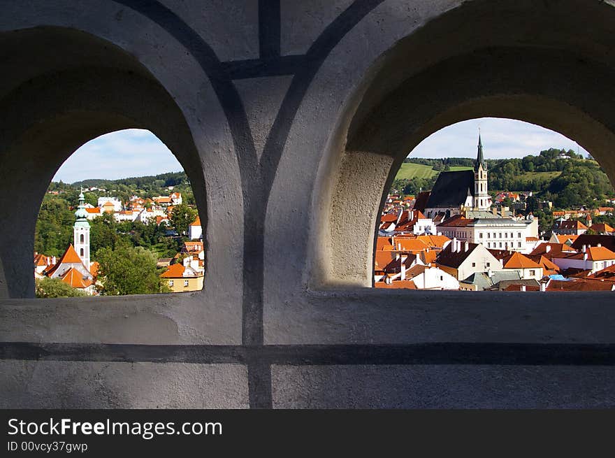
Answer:
[[[325, 224], [314, 237], [313, 286], [372, 285], [384, 189], [414, 146], [455, 122], [507, 117], [559, 131], [591, 151], [614, 182], [615, 59], [607, 50], [615, 45], [615, 8], [486, 3], [466, 2], [431, 20], [366, 72], [338, 123], [345, 142], [331, 141], [344, 146], [324, 157], [335, 167], [317, 189], [331, 199], [317, 206]], [[579, 17], [595, 27], [579, 30]]]

